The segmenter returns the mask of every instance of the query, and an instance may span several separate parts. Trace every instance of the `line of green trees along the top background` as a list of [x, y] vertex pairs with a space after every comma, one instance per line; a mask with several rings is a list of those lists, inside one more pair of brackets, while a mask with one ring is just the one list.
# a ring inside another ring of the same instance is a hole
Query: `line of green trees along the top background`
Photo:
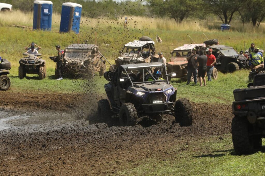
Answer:
[[[21, 11], [32, 11], [34, 0], [4, 0]], [[52, 0], [53, 11], [61, 13], [65, 0]], [[205, 19], [216, 15], [229, 24], [236, 15], [242, 23], [251, 22], [259, 27], [265, 18], [265, 0], [70, 0], [83, 6], [82, 15], [87, 17], [158, 16], [170, 17], [181, 23], [186, 18]]]

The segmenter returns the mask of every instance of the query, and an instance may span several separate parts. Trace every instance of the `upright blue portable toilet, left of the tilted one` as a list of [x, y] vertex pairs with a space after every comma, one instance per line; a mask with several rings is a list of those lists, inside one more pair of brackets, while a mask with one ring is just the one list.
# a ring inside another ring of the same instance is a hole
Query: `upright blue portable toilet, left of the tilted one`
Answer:
[[51, 30], [52, 2], [34, 1], [33, 29]]

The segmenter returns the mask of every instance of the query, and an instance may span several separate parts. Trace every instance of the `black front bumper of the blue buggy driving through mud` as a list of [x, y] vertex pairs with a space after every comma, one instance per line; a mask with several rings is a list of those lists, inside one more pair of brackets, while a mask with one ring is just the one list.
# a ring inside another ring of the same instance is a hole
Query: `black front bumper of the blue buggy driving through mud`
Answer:
[[153, 104], [142, 104], [144, 113], [154, 114], [154, 113], [166, 113], [171, 112], [174, 102], [169, 103], [153, 103]]

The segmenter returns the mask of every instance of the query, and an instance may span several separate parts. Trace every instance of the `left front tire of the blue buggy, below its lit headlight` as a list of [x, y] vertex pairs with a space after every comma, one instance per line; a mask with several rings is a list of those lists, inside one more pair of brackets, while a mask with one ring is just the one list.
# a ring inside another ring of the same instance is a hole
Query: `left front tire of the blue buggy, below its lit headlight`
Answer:
[[124, 103], [120, 109], [119, 121], [120, 126], [137, 125], [138, 115], [132, 103]]

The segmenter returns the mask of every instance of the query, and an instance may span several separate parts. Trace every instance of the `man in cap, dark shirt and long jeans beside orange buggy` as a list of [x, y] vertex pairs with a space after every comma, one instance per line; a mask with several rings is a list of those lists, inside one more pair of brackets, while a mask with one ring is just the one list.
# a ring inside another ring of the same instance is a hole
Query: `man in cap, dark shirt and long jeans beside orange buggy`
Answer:
[[198, 58], [199, 55], [196, 54], [196, 48], [192, 49], [192, 53], [187, 56], [188, 61], [188, 74], [187, 74], [187, 85], [191, 82], [191, 76], [193, 75], [194, 84], [197, 85], [197, 76], [198, 76], [198, 61], [195, 58]]

